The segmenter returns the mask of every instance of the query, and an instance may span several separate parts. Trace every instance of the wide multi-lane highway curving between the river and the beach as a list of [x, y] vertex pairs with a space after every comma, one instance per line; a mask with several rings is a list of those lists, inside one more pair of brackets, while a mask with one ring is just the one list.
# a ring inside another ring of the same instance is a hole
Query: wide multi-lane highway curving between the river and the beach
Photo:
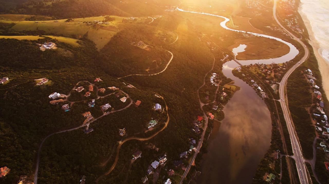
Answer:
[[299, 65], [301, 65], [304, 61], [307, 60], [307, 58], [309, 57], [309, 50], [308, 50], [307, 46], [300, 39], [298, 39], [295, 35], [293, 35], [290, 31], [288, 31], [285, 27], [283, 27], [281, 25], [281, 23], [279, 22], [279, 20], [276, 17], [276, 3], [277, 3], [277, 0], [274, 0], [273, 17], [274, 17], [275, 21], [294, 40], [296, 40], [298, 43], [300, 43], [303, 46], [304, 50], [305, 50], [305, 54], [302, 57], [302, 59], [298, 63], [296, 63], [295, 65], [293, 65], [287, 71], [287, 73], [283, 76], [283, 78], [282, 78], [282, 80], [280, 82], [279, 93], [280, 93], [280, 103], [281, 103], [283, 115], [284, 115], [284, 118], [286, 120], [288, 131], [289, 131], [289, 136], [290, 136], [290, 139], [291, 139], [293, 158], [295, 159], [296, 165], [297, 165], [297, 172], [298, 172], [299, 180], [300, 180], [300, 183], [301, 184], [308, 184], [309, 182], [308, 182], [306, 167], [304, 165], [304, 158], [303, 158], [303, 155], [302, 155], [300, 144], [299, 144], [298, 139], [297, 139], [297, 134], [296, 134], [296, 132], [294, 130], [294, 127], [293, 127], [293, 122], [291, 120], [290, 111], [289, 111], [289, 107], [288, 107], [288, 98], [287, 98], [286, 91], [287, 91], [287, 81], [288, 81], [289, 76], [291, 75], [291, 73]]

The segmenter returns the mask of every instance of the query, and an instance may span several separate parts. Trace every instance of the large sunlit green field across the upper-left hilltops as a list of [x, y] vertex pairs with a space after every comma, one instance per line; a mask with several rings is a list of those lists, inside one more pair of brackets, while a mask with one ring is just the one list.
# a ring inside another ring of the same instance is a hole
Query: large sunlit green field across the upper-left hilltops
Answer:
[[[105, 16], [99, 17], [86, 17], [76, 18], [70, 22], [65, 22], [67, 19], [49, 21], [24, 21], [25, 18], [29, 18], [32, 15], [0, 15], [0, 22], [2, 23], [15, 23], [12, 29], [17, 31], [35, 31], [42, 30], [46, 34], [63, 35], [64, 37], [81, 38], [87, 35], [87, 38], [96, 44], [98, 49], [103, 48], [110, 39], [119, 31], [119, 26], [125, 17], [111, 16], [114, 18], [110, 24], [105, 25], [87, 25], [83, 22], [103, 21]], [[143, 20], [139, 18], [139, 20]], [[139, 22], [139, 20], [137, 22]], [[48, 36], [51, 37], [51, 36]], [[62, 41], [63, 37], [56, 37], [59, 41]], [[35, 38], [34, 38], [35, 39]], [[60, 40], [61, 39], [61, 40]], [[32, 39], [30, 39], [32, 40]], [[67, 42], [66, 40], [63, 42]], [[72, 43], [72, 41], [69, 41]]]

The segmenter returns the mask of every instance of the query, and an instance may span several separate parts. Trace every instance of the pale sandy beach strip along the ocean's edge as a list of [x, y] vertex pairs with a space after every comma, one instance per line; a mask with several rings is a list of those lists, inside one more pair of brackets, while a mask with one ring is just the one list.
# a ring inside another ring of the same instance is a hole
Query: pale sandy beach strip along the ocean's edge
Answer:
[[305, 27], [307, 29], [307, 31], [309, 32], [309, 37], [310, 39], [309, 44], [313, 47], [314, 50], [314, 54], [316, 56], [316, 60], [317, 63], [319, 65], [319, 70], [322, 76], [322, 87], [323, 87], [323, 91], [326, 94], [326, 96], [329, 95], [329, 62], [323, 58], [321, 52], [322, 52], [322, 48], [320, 47], [320, 43], [316, 40], [315, 36], [314, 36], [314, 32], [311, 26], [311, 22], [310, 20], [307, 18], [307, 15], [302, 11], [302, 6], [303, 3], [300, 2], [299, 7], [298, 7], [298, 13], [300, 14], [300, 16], [303, 19], [303, 22], [305, 24]]

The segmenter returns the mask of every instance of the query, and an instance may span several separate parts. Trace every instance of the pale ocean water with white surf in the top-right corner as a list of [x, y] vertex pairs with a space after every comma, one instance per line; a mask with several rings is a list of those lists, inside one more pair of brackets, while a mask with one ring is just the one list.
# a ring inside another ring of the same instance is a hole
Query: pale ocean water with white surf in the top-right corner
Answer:
[[310, 21], [319, 52], [329, 63], [329, 0], [300, 0], [301, 11]]

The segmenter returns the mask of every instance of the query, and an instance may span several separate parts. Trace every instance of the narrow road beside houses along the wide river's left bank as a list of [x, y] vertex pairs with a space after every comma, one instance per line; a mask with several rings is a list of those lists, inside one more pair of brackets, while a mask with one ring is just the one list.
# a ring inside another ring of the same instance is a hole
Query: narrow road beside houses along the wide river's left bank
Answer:
[[203, 139], [204, 139], [205, 134], [206, 134], [206, 130], [207, 130], [207, 127], [208, 127], [208, 118], [207, 118], [207, 114], [206, 114], [206, 112], [203, 111], [204, 103], [202, 103], [202, 101], [201, 101], [201, 99], [200, 99], [199, 91], [200, 91], [200, 89], [206, 84], [206, 77], [207, 77], [207, 75], [208, 75], [208, 74], [214, 69], [214, 66], [215, 66], [215, 58], [214, 58], [214, 63], [213, 63], [213, 66], [212, 66], [211, 70], [209, 70], [209, 71], [206, 73], [206, 75], [205, 75], [205, 77], [204, 77], [204, 79], [203, 79], [203, 84], [202, 84], [202, 85], [198, 88], [198, 90], [197, 90], [198, 100], [199, 100], [199, 103], [200, 103], [200, 108], [201, 108], [201, 110], [202, 110], [202, 112], [203, 112], [203, 115], [205, 116], [205, 127], [203, 128], [202, 135], [201, 135], [201, 138], [200, 138], [200, 140], [199, 140], [199, 142], [198, 142], [198, 145], [197, 145], [196, 151], [194, 152], [194, 155], [193, 155], [193, 157], [192, 157], [192, 159], [191, 159], [189, 165], [186, 167], [186, 170], [185, 170], [185, 172], [184, 172], [184, 174], [183, 174], [183, 176], [182, 176], [182, 178], [181, 178], [181, 181], [179, 182], [180, 184], [183, 183], [185, 177], [186, 177], [187, 174], [189, 173], [190, 168], [191, 168], [191, 166], [192, 166], [192, 163], [193, 163], [193, 161], [195, 160], [196, 156], [198, 155], [198, 153], [199, 153], [199, 151], [200, 151], [200, 148], [201, 148], [201, 146], [202, 146]]

